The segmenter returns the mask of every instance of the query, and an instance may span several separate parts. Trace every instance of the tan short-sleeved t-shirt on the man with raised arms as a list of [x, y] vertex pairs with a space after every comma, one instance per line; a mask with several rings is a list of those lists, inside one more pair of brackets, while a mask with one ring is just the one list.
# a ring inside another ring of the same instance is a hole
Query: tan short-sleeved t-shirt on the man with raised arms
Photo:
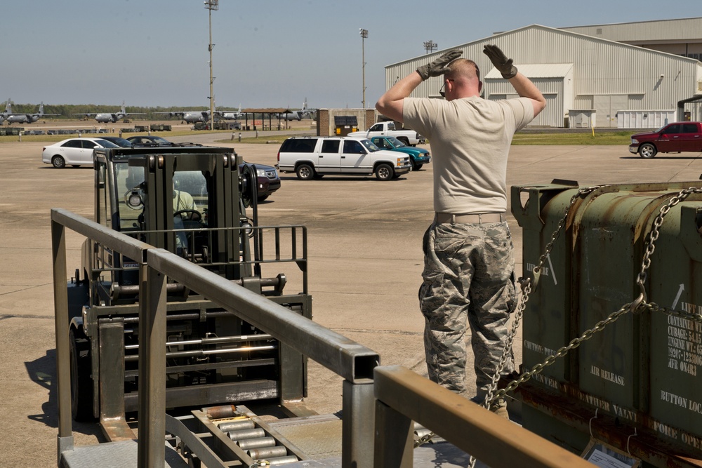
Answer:
[[531, 100], [405, 98], [403, 117], [431, 145], [435, 211], [507, 210], [507, 158], [512, 136], [534, 119]]

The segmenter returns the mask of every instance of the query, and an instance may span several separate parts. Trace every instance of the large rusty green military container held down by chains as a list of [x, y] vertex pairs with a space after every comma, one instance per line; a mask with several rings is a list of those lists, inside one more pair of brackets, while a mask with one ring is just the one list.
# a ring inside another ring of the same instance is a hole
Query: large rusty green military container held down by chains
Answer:
[[[681, 190], [682, 201], [670, 203]], [[522, 370], [626, 311], [519, 385], [525, 428], [576, 452], [595, 440], [643, 466], [702, 466], [702, 386], [695, 385], [702, 321], [691, 316], [702, 311], [697, 192], [702, 182], [512, 187], [524, 276], [537, 280], [524, 310]], [[647, 250], [642, 295], [637, 279]], [[623, 309], [637, 299], [658, 307]]]

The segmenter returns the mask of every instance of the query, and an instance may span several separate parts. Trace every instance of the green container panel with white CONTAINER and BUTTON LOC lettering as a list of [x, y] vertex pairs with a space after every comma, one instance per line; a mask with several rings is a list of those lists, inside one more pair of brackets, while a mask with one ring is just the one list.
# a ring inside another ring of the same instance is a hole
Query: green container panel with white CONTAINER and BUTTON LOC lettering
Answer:
[[[697, 196], [698, 197], [698, 196]], [[692, 198], [692, 197], [690, 197]], [[684, 201], [663, 219], [648, 278], [649, 301], [702, 312], [702, 203]], [[702, 447], [702, 322], [650, 312], [651, 417], [684, 443]]]

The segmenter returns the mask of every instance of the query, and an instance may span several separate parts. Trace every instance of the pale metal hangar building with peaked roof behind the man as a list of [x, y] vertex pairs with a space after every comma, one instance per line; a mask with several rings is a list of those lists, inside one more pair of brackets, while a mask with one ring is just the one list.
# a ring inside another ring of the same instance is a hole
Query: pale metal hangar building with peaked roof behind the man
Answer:
[[[497, 44], [534, 81], [547, 106], [531, 126], [658, 128], [702, 118], [702, 18], [581, 27], [529, 25], [385, 67], [386, 89], [453, 48], [474, 60], [483, 97], [516, 97], [482, 53]], [[413, 97], [440, 98], [441, 77]]]

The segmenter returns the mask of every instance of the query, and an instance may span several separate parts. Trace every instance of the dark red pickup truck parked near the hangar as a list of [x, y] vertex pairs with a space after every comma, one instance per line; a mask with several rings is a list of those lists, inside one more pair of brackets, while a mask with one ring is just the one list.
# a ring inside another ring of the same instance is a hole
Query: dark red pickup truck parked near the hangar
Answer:
[[658, 153], [702, 152], [702, 123], [669, 123], [652, 133], [631, 135], [629, 152], [642, 158]]

